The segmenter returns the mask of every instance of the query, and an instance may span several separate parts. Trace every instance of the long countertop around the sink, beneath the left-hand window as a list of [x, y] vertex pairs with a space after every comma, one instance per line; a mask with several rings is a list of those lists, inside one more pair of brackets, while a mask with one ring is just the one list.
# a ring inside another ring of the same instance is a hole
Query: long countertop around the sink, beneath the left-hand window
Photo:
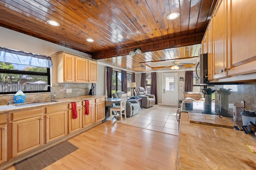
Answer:
[[[32, 109], [32, 108], [37, 108], [37, 107], [46, 107], [46, 106], [54, 106], [58, 104], [67, 104], [70, 102], [80, 102], [83, 100], [90, 100], [90, 99], [96, 99], [96, 98], [104, 98], [105, 96], [96, 96], [96, 95], [88, 95], [88, 96], [78, 96], [78, 97], [72, 97], [72, 98], [60, 98], [56, 99], [57, 102], [52, 102], [52, 103], [47, 103], [47, 104], [40, 104], [38, 103], [37, 105], [34, 106], [23, 106], [23, 107], [16, 107], [14, 105], [0, 105], [0, 114], [1, 113], [6, 113], [9, 111], [20, 111], [24, 109]], [[55, 99], [54, 99], [55, 100]], [[26, 103], [24, 103], [26, 104]]]

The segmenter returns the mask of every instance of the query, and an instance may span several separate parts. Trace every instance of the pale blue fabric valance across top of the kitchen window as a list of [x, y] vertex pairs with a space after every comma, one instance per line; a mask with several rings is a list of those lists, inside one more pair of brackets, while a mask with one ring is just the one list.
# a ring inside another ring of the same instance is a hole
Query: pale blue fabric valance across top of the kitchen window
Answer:
[[52, 68], [51, 57], [0, 47], [0, 62]]

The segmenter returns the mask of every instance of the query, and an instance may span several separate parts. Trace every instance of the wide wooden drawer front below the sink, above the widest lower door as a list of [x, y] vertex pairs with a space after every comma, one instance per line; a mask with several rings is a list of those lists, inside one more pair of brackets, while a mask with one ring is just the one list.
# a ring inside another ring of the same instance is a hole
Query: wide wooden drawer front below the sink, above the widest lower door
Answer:
[[27, 119], [30, 117], [43, 115], [43, 108], [24, 110], [12, 113], [12, 121], [17, 121], [20, 119]]

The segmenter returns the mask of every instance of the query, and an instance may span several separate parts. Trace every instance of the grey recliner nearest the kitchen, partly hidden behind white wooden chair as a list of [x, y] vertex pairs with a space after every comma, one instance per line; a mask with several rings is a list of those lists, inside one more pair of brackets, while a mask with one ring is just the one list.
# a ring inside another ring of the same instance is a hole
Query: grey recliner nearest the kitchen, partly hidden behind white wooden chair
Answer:
[[[125, 92], [114, 92], [113, 98], [121, 98]], [[140, 111], [140, 102], [136, 99], [130, 99], [126, 101], [126, 116], [131, 117], [136, 115]]]

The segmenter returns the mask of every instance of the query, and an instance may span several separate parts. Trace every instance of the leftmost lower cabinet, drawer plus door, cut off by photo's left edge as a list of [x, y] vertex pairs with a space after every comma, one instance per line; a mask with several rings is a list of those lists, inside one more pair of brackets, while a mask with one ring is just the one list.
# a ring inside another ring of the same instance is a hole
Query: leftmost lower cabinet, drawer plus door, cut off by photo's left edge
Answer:
[[6, 114], [0, 115], [0, 164], [7, 161]]

